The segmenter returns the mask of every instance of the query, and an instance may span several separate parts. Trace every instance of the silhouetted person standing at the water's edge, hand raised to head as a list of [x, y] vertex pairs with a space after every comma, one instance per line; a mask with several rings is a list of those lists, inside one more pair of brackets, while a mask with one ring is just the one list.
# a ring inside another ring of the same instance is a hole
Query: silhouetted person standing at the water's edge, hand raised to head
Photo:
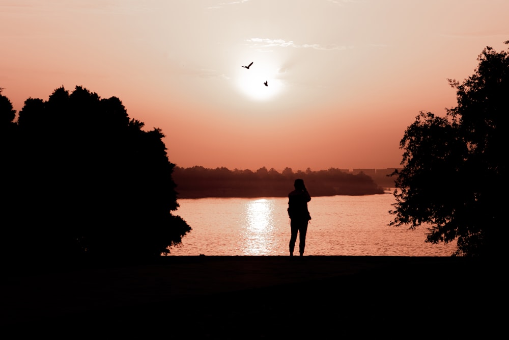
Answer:
[[307, 210], [307, 202], [311, 196], [304, 186], [304, 180], [296, 179], [294, 182], [295, 190], [288, 194], [288, 216], [290, 216], [290, 227], [292, 234], [290, 237], [290, 256], [293, 256], [297, 234], [299, 234], [299, 253], [304, 254], [306, 246], [307, 224], [311, 219]]

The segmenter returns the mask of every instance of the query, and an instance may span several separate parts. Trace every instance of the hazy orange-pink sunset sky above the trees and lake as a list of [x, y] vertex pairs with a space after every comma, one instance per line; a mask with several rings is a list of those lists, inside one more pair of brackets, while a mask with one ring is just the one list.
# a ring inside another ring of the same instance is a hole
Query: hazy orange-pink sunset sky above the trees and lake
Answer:
[[0, 0], [0, 87], [117, 96], [181, 167], [398, 167], [509, 39], [506, 0], [221, 1]]

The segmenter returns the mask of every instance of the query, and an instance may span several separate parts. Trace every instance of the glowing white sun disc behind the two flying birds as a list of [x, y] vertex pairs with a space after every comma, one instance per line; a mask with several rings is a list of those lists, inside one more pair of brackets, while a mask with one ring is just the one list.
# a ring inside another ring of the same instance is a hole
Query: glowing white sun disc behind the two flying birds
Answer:
[[[282, 90], [282, 82], [278, 79], [277, 70], [278, 68], [273, 64], [267, 65], [256, 61], [249, 69], [239, 65], [237, 88], [252, 100], [273, 99]], [[267, 85], [264, 84], [265, 82]]]

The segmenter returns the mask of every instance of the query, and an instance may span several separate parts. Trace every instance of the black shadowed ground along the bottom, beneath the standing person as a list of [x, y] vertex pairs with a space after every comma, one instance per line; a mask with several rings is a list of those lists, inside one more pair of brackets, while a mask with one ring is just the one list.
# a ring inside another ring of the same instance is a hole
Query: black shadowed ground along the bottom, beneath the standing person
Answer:
[[503, 268], [453, 257], [168, 256], [20, 271], [2, 278], [0, 327], [16, 338], [489, 338], [507, 324]]

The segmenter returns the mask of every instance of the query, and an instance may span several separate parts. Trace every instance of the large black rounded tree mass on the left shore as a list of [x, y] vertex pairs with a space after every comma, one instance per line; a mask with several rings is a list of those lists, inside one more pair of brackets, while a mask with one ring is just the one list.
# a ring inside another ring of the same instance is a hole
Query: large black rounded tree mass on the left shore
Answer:
[[160, 256], [191, 230], [179, 216], [164, 135], [117, 97], [77, 86], [29, 98], [17, 121], [0, 93], [3, 260]]

